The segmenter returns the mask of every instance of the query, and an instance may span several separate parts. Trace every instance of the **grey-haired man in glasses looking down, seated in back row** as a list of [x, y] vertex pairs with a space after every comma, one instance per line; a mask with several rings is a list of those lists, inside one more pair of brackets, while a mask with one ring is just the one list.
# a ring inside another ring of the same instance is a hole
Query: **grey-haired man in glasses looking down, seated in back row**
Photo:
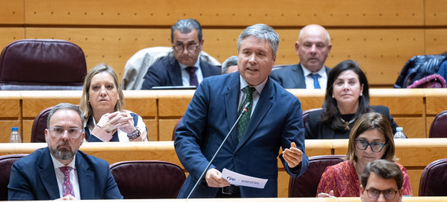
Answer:
[[154, 86], [198, 86], [203, 78], [220, 75], [221, 69], [200, 61], [202, 27], [197, 20], [177, 21], [170, 31], [173, 54], [147, 69], [141, 90]]

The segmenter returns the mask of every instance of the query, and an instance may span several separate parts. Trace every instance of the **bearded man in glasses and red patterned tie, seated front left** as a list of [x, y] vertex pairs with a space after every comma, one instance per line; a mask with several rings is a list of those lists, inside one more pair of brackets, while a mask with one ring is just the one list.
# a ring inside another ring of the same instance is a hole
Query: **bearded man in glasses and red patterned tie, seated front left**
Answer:
[[53, 107], [45, 129], [46, 148], [11, 168], [9, 201], [123, 199], [104, 160], [80, 150], [84, 116], [73, 104]]

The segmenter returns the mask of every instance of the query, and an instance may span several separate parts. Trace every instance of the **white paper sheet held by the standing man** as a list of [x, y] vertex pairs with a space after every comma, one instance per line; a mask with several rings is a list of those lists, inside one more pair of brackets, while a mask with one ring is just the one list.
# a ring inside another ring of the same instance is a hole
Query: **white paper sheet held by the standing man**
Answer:
[[228, 169], [223, 169], [222, 178], [228, 180], [232, 185], [255, 187], [259, 189], [264, 189], [265, 183], [267, 183], [267, 179], [245, 176]]

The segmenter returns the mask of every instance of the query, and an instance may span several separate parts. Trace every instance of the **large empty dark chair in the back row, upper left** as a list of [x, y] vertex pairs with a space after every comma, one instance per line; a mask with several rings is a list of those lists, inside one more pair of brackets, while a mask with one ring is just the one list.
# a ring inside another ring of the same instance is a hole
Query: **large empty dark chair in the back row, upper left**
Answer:
[[0, 90], [82, 90], [84, 52], [65, 40], [17, 40], [0, 55]]

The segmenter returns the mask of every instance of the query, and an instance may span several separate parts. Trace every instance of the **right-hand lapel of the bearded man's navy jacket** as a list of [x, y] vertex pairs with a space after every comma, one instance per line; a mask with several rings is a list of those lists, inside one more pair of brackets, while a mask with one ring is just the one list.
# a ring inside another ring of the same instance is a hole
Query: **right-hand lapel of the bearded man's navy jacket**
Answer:
[[84, 157], [76, 153], [76, 170], [78, 171], [79, 191], [81, 199], [94, 199], [94, 172], [89, 171], [89, 164]]

